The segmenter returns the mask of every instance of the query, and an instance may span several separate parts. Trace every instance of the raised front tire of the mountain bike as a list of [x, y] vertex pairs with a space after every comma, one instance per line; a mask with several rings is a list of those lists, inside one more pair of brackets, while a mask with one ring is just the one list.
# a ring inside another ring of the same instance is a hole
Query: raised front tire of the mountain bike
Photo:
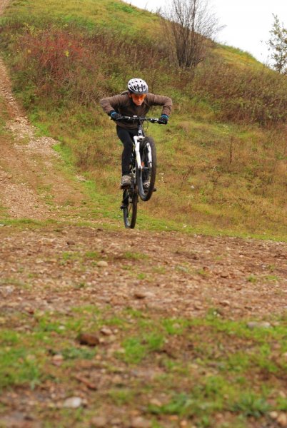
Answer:
[[[148, 148], [147, 143], [151, 147], [151, 164], [148, 161]], [[137, 179], [139, 187], [139, 196], [141, 200], [149, 200], [153, 194], [153, 188], [156, 183], [156, 144], [153, 141], [153, 138], [146, 137], [141, 145], [141, 161], [143, 163], [144, 169], [137, 170]], [[146, 175], [144, 177], [144, 175]], [[149, 181], [148, 190], [144, 189], [144, 180]]]

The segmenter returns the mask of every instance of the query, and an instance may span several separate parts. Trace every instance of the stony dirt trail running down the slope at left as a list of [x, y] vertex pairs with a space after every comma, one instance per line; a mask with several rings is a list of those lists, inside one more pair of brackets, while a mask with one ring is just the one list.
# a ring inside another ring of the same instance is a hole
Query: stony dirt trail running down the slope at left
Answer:
[[[1, 4], [0, 13], [8, 3]], [[81, 205], [83, 196], [76, 183], [57, 172], [61, 161], [52, 146], [58, 142], [36, 136], [36, 128], [29, 123], [11, 93], [11, 81], [2, 58], [0, 97], [10, 116], [6, 130], [13, 136], [1, 136], [0, 158], [0, 201], [11, 218], [59, 218], [59, 208], [65, 211], [65, 205]], [[54, 208], [51, 208], [51, 200]]]

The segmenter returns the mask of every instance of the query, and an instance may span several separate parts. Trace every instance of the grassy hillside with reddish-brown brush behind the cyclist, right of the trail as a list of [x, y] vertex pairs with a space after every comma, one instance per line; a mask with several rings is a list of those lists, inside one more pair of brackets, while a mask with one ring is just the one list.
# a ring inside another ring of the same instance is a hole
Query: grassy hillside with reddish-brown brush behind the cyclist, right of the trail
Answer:
[[139, 75], [174, 101], [168, 127], [148, 129], [158, 194], [146, 214], [183, 229], [284, 238], [286, 77], [218, 45], [194, 76], [178, 71], [158, 17], [121, 1], [14, 1], [6, 16], [1, 46], [19, 100], [104, 193], [119, 198], [121, 144], [99, 98]]

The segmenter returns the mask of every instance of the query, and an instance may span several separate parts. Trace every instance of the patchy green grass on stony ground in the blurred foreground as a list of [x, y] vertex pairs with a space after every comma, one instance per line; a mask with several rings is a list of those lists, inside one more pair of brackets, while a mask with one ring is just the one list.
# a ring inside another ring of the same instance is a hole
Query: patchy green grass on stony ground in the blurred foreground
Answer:
[[[213, 314], [211, 309], [203, 319], [168, 318], [131, 309], [115, 314], [109, 307], [99, 310], [89, 305], [71, 308], [66, 315], [5, 315], [0, 333], [1, 391], [5, 394], [17, 386], [37, 391], [47, 379], [55, 388], [71, 389], [76, 387], [71, 374], [92, 383], [89, 372], [104, 370], [106, 388], [86, 391], [89, 405], [81, 409], [79, 419], [83, 424], [95, 404], [102, 411], [105, 396], [111, 408], [144, 410], [148, 419], [163, 426], [173, 415], [198, 427], [219, 427], [212, 423], [218, 413], [228, 415], [228, 427], [249, 427], [253, 419], [263, 425], [271, 410], [286, 411], [286, 398], [279, 394], [287, 369], [286, 317], [270, 319], [270, 329], [250, 330], [248, 320]], [[29, 330], [21, 330], [23, 325]], [[104, 325], [116, 331], [112, 347], [109, 339], [96, 347], [79, 345], [79, 332], [101, 337]], [[276, 343], [279, 348], [273, 347]], [[59, 368], [51, 364], [54, 355], [63, 357]], [[57, 412], [59, 421], [74, 415]], [[46, 418], [53, 420], [51, 414]]]

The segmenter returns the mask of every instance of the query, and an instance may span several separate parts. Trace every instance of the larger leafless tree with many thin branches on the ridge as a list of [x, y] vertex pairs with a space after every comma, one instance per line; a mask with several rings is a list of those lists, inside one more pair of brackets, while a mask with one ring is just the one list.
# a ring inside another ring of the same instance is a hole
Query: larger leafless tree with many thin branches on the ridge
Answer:
[[194, 68], [201, 63], [208, 44], [222, 29], [208, 8], [208, 0], [171, 0], [161, 16], [181, 68]]

